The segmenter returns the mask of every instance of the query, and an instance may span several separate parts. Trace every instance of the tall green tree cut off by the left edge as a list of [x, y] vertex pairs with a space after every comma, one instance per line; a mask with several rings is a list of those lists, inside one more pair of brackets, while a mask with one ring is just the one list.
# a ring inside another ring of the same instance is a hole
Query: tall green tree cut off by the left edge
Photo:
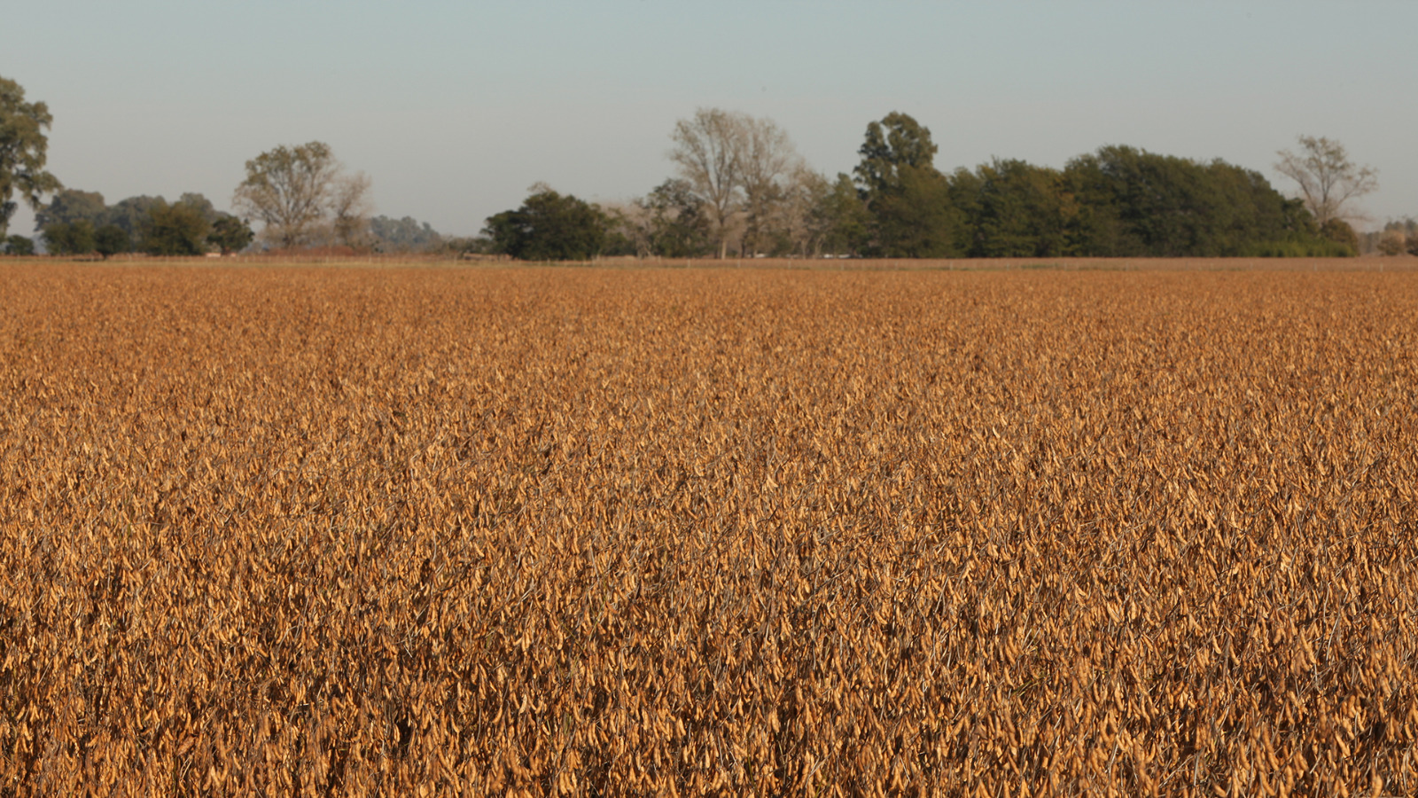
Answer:
[[0, 236], [10, 229], [20, 199], [35, 212], [40, 196], [60, 190], [58, 177], [44, 169], [48, 138], [44, 131], [54, 122], [43, 102], [26, 102], [20, 84], [0, 78]]

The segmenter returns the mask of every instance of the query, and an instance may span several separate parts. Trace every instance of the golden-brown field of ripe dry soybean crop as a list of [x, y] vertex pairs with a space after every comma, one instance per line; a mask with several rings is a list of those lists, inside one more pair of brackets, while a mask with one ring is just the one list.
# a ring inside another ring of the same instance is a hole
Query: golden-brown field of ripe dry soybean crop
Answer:
[[1412, 270], [0, 263], [0, 795], [1414, 795], [1415, 518]]

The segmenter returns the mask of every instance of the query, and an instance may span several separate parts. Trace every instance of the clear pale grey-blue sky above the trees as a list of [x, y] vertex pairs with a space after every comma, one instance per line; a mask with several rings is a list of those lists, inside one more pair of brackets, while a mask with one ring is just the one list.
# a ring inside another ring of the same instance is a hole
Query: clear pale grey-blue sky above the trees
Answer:
[[536, 182], [648, 193], [674, 175], [675, 122], [725, 108], [828, 176], [892, 111], [930, 129], [943, 172], [1122, 143], [1288, 195], [1276, 152], [1329, 136], [1378, 170], [1360, 229], [1418, 216], [1412, 0], [10, 0], [0, 20], [0, 77], [54, 115], [50, 170], [109, 203], [224, 210], [247, 160], [323, 141], [369, 175], [374, 213], [475, 234]]

